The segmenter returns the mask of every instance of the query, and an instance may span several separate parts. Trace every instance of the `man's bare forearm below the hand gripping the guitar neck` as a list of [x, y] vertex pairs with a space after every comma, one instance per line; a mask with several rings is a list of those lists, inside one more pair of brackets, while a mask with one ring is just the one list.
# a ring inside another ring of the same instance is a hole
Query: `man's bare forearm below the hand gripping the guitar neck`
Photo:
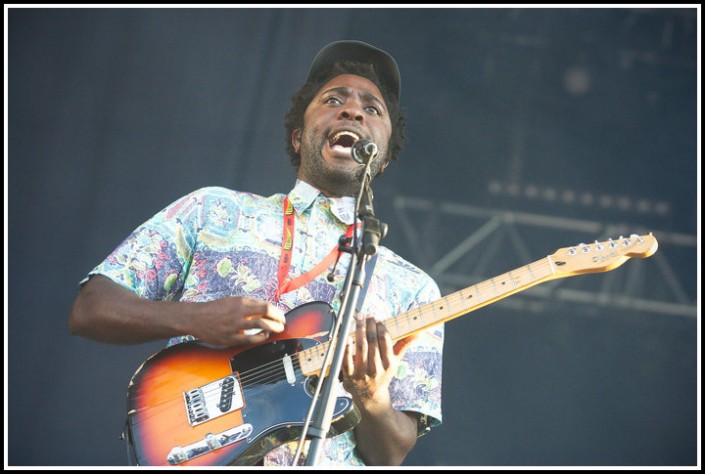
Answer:
[[368, 465], [398, 466], [416, 444], [417, 418], [396, 410], [390, 400], [357, 402], [357, 450]]

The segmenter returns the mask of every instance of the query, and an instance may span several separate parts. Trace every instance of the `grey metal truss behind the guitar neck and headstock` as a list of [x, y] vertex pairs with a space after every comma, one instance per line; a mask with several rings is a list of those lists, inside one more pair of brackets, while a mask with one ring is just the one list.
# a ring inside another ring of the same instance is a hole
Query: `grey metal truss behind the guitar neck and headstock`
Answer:
[[[413, 260], [436, 280], [443, 294], [488, 280], [588, 237], [602, 241], [652, 232], [659, 250], [647, 259], [631, 259], [598, 278], [579, 275], [552, 280], [498, 303], [522, 311], [543, 311], [549, 304], [562, 302], [573, 308], [602, 311], [609, 307], [697, 317], [694, 235], [411, 197], [395, 198], [393, 207], [398, 219], [395, 233], [403, 235]], [[557, 247], [547, 247], [554, 241]]]

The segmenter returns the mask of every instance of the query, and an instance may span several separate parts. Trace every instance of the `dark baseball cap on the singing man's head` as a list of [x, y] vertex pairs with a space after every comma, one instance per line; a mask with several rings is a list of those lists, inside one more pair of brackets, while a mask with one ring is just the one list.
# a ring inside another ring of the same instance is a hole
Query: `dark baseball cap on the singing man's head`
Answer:
[[382, 85], [399, 100], [401, 76], [397, 62], [386, 51], [363, 41], [341, 40], [324, 46], [313, 58], [307, 82], [315, 81], [326, 74], [334, 63], [345, 60], [373, 64]]

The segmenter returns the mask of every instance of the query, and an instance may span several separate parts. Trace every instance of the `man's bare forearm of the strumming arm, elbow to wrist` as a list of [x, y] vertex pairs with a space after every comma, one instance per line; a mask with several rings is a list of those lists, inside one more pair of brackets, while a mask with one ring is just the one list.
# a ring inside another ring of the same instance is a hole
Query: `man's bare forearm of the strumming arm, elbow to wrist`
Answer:
[[[186, 332], [196, 303], [149, 301], [100, 275], [81, 289], [71, 309], [72, 334], [111, 344], [137, 344]], [[193, 307], [193, 308], [192, 308]]]

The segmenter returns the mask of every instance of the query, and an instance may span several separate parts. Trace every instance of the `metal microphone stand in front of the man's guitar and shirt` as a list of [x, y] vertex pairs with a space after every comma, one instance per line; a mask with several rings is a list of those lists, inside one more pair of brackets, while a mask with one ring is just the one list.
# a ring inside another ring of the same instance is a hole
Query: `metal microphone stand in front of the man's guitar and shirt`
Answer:
[[[355, 215], [362, 221], [362, 239], [358, 242], [357, 233], [353, 232], [353, 244], [351, 247], [340, 246], [340, 250], [348, 252], [351, 255], [350, 266], [345, 278], [343, 286], [342, 302], [339, 317], [336, 318], [334, 327], [331, 331], [328, 350], [323, 362], [323, 370], [316, 384], [316, 391], [313, 396], [311, 410], [315, 406], [315, 418], [311, 426], [308, 426], [308, 420], [311, 418], [311, 411], [307, 417], [307, 423], [302, 429], [299, 446], [294, 456], [294, 465], [301, 454], [304, 441], [307, 436], [307, 431], [311, 435], [311, 444], [309, 446], [306, 465], [315, 466], [318, 458], [320, 447], [325, 441], [326, 436], [330, 432], [330, 425], [333, 418], [333, 409], [337, 398], [337, 391], [340, 381], [338, 374], [343, 363], [343, 356], [347, 341], [352, 330], [352, 322], [354, 320], [355, 308], [361, 307], [362, 300], [360, 294], [365, 282], [365, 263], [369, 258], [377, 253], [379, 241], [386, 235], [387, 225], [375, 218], [374, 208], [372, 206], [372, 189], [370, 183], [372, 175], [370, 171], [370, 159], [365, 165], [364, 175], [360, 186], [360, 192], [357, 196]], [[363, 296], [364, 298], [364, 296]], [[335, 344], [332, 344], [335, 342]], [[326, 370], [328, 362], [330, 363], [330, 371]], [[320, 398], [318, 393], [321, 392]]]

